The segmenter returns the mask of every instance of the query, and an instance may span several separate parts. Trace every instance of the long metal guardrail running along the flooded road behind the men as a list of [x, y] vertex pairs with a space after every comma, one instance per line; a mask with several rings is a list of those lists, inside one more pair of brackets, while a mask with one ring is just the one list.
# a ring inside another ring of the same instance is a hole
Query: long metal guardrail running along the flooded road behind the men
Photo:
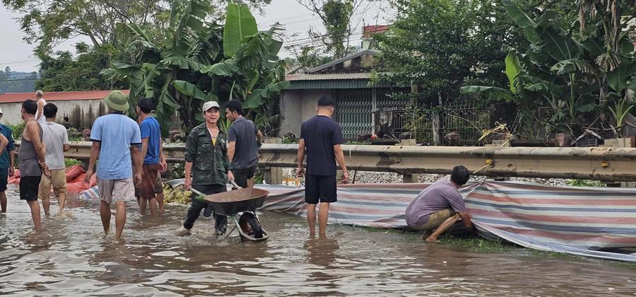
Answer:
[[[18, 141], [16, 141], [18, 142]], [[66, 158], [86, 161], [91, 143], [71, 142]], [[342, 146], [349, 170], [448, 174], [464, 165], [490, 177], [636, 181], [636, 148], [531, 148], [475, 146]], [[185, 144], [165, 144], [169, 163], [184, 161]], [[296, 144], [263, 144], [259, 165], [295, 168]]]

